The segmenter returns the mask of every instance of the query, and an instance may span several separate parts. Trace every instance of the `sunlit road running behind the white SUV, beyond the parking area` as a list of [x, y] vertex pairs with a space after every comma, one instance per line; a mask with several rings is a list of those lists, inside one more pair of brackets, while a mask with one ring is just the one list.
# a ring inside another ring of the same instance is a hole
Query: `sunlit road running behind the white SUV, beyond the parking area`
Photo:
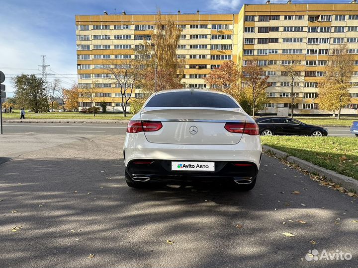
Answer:
[[[8, 134], [101, 134], [124, 135], [125, 124], [70, 123], [3, 123]], [[329, 136], [354, 137], [349, 128], [328, 128]]]

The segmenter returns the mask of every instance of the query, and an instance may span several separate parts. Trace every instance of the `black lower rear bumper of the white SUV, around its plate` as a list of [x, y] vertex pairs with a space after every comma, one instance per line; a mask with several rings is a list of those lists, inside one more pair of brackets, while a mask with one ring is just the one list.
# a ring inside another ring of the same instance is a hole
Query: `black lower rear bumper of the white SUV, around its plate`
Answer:
[[[216, 161], [214, 172], [172, 171], [171, 160], [132, 160], [126, 166], [126, 179], [140, 182], [232, 182], [250, 184], [258, 174], [252, 162]], [[241, 166], [235, 166], [234, 163]]]

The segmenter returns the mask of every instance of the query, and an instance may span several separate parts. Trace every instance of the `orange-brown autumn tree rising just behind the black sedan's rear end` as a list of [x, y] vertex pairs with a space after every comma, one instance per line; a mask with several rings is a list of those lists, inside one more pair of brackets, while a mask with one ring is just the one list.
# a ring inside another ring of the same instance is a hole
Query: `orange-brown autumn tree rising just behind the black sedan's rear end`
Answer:
[[244, 93], [246, 94], [249, 104], [252, 108], [252, 116], [264, 108], [267, 102], [266, 88], [269, 86], [269, 76], [263, 76], [262, 67], [258, 66], [257, 60], [247, 61], [240, 73], [241, 81], [245, 85]]

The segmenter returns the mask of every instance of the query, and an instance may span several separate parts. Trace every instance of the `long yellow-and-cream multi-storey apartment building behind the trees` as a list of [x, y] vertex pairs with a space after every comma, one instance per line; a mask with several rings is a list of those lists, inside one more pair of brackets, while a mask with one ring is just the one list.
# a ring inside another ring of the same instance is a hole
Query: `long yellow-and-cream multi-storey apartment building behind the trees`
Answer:
[[[203, 77], [223, 62], [239, 65], [257, 59], [269, 75], [269, 101], [262, 114], [288, 115], [290, 79], [282, 65], [289, 55], [300, 61], [294, 83], [295, 113], [327, 114], [316, 103], [317, 84], [324, 78], [328, 57], [342, 43], [355, 57], [352, 101], [342, 114], [358, 114], [358, 4], [245, 4], [238, 14], [172, 14], [182, 33], [178, 57], [185, 60], [182, 83], [209, 88]], [[79, 88], [96, 81], [95, 102], [105, 100], [107, 111], [121, 111], [121, 94], [105, 70], [108, 60], [121, 64], [137, 57], [133, 49], [150, 40], [155, 15], [76, 15]], [[356, 67], [357, 66], [357, 67]], [[132, 95], [142, 98], [140, 88]], [[96, 103], [98, 105], [98, 103]], [[91, 104], [79, 99], [80, 109]]]

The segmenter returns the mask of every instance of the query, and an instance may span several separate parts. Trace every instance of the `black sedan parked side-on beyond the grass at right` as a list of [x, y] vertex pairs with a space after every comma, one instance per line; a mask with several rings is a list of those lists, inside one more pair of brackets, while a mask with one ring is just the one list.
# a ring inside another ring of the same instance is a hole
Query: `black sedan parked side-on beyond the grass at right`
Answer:
[[290, 117], [266, 116], [255, 119], [260, 135], [327, 136], [325, 128], [304, 124]]

